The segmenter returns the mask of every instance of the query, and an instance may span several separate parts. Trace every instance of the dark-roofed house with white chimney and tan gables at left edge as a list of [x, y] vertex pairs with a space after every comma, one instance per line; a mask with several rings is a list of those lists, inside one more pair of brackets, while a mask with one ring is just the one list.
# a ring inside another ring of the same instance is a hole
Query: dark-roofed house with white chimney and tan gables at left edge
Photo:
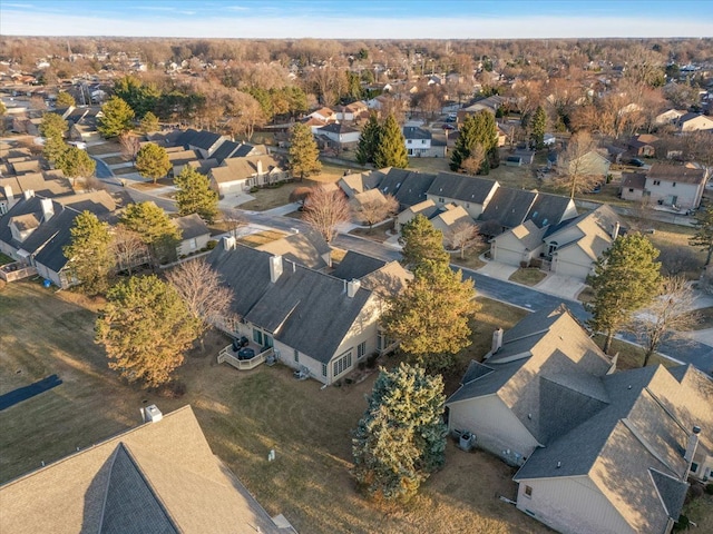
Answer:
[[117, 205], [107, 191], [42, 198], [26, 190], [0, 216], [0, 251], [60, 288], [77, 284], [68, 268], [64, 247], [71, 241], [75, 218], [87, 210], [102, 220]]

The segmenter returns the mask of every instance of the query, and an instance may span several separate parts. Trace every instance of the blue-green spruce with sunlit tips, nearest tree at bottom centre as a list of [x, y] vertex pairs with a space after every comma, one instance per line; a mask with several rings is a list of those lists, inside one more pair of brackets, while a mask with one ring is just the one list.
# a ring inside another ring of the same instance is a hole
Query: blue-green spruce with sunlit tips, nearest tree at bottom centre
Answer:
[[352, 439], [352, 475], [375, 501], [407, 502], [442, 467], [443, 380], [420, 367], [381, 369]]

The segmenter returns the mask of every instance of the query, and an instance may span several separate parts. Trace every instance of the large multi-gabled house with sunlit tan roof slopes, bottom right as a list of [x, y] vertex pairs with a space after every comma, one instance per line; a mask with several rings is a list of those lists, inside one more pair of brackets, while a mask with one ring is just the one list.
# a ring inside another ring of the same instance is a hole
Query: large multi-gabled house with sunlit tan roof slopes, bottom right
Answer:
[[517, 507], [563, 533], [671, 532], [713, 468], [713, 382], [692, 366], [614, 373], [564, 307], [496, 330], [447, 400], [449, 428], [520, 468]]

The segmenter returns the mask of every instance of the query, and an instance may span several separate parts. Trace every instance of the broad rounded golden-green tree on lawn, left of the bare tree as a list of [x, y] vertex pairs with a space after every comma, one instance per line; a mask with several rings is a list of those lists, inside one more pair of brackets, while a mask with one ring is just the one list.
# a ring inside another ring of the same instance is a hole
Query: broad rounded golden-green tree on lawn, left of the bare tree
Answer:
[[110, 368], [128, 382], [158, 387], [183, 364], [196, 328], [178, 293], [152, 275], [133, 276], [109, 289], [96, 333]]

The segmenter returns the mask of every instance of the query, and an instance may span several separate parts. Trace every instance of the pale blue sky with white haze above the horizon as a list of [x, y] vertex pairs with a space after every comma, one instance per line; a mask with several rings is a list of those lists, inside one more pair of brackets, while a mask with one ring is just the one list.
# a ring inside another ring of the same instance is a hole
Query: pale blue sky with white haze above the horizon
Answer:
[[0, 34], [713, 37], [712, 0], [0, 0]]

